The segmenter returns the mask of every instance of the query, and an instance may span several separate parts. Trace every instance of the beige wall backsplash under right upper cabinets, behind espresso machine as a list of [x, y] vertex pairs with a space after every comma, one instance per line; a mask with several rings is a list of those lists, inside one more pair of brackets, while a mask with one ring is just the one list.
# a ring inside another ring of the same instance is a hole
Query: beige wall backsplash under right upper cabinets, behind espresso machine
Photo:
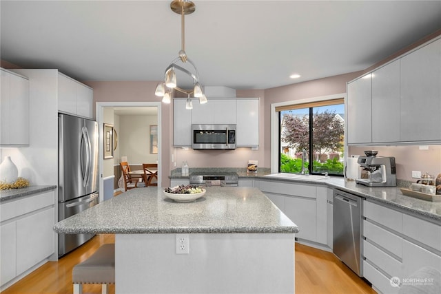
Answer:
[[[427, 147], [428, 149], [424, 149]], [[441, 173], [441, 145], [423, 146], [381, 146], [381, 147], [354, 147], [350, 146], [347, 152], [351, 155], [364, 155], [365, 150], [378, 150], [377, 156], [393, 156], [396, 160], [397, 180], [416, 182], [412, 178], [412, 171], [428, 172], [433, 176]], [[399, 184], [397, 182], [397, 184]], [[402, 186], [402, 185], [400, 185]]]

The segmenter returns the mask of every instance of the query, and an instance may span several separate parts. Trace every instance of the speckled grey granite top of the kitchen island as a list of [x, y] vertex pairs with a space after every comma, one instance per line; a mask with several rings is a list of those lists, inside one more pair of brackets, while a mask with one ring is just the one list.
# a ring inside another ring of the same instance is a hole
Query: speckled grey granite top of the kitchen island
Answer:
[[174, 202], [163, 188], [131, 189], [54, 226], [57, 233], [298, 233], [252, 187], [208, 187], [195, 202]]

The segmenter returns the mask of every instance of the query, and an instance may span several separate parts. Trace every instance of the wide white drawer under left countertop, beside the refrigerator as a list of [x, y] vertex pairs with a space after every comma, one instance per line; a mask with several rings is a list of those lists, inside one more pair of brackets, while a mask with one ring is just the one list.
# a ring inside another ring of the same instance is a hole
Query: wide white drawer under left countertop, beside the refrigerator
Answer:
[[25, 213], [48, 207], [54, 203], [54, 191], [48, 191], [36, 196], [21, 198], [19, 200], [10, 200], [10, 202], [0, 204], [0, 221], [3, 222], [3, 220], [9, 220], [10, 218], [21, 216]]

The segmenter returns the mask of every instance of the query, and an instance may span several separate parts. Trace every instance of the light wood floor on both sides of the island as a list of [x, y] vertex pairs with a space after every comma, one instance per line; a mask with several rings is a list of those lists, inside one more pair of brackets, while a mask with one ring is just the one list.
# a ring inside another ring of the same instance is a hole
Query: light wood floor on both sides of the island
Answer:
[[[48, 262], [30, 273], [3, 294], [72, 293], [72, 267], [88, 258], [102, 244], [113, 243], [114, 235], [96, 235], [58, 262]], [[110, 294], [115, 293], [110, 285]], [[84, 285], [84, 294], [101, 293], [99, 285]], [[376, 293], [332, 253], [296, 243], [296, 293]]]

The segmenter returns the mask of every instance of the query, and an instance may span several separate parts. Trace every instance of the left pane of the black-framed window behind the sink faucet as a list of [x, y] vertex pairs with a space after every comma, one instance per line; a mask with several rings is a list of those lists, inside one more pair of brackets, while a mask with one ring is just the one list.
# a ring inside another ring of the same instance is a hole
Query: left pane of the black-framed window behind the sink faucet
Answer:
[[309, 108], [280, 112], [280, 172], [302, 171], [302, 149], [309, 155]]

